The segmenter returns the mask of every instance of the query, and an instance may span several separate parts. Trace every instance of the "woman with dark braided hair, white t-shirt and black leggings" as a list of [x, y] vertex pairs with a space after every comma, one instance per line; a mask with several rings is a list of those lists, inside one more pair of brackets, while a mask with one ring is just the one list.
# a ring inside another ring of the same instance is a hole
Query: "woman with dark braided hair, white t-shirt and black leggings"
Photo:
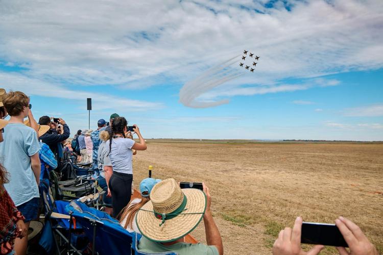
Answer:
[[106, 142], [106, 147], [109, 148], [109, 159], [113, 167], [113, 174], [109, 180], [113, 217], [116, 217], [128, 205], [132, 195], [132, 149], [146, 150], [147, 148], [137, 125], [133, 125], [133, 131], [138, 135], [139, 141], [135, 142], [127, 138], [130, 135], [130, 132], [127, 132], [127, 124], [128, 122], [124, 117], [114, 118], [110, 138]]

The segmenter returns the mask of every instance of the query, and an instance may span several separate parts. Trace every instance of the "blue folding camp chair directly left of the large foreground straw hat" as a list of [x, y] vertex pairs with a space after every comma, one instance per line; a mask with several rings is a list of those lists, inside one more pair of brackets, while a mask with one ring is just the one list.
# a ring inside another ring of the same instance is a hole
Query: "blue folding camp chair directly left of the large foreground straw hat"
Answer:
[[65, 210], [76, 218], [92, 240], [92, 254], [131, 254], [132, 234], [118, 220], [79, 201], [70, 202]]

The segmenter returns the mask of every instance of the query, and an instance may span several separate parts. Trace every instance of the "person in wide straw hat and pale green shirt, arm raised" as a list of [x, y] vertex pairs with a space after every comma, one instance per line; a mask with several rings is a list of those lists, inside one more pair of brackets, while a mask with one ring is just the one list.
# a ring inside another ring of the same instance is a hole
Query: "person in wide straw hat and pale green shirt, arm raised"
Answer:
[[[180, 189], [174, 179], [157, 183], [150, 201], [138, 210], [136, 223], [142, 238], [142, 252], [174, 251], [179, 255], [223, 254], [222, 238], [210, 211], [209, 189]], [[205, 244], [184, 242], [202, 220], [205, 223]]]

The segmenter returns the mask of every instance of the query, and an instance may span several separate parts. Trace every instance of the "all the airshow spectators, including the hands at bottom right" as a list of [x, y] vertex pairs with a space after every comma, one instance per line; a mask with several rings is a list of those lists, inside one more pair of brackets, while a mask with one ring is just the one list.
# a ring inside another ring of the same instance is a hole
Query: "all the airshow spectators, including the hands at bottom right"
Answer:
[[[94, 177], [105, 190], [104, 205], [109, 205], [105, 211], [119, 219], [127, 231], [142, 235], [138, 244], [140, 251], [224, 253], [205, 183], [203, 190], [181, 189], [174, 179], [147, 178], [139, 185], [141, 198], [131, 200], [132, 159], [137, 151], [147, 149], [137, 125], [133, 125], [134, 133], [128, 131], [127, 120], [114, 113], [109, 125], [100, 119], [97, 130], [79, 130], [70, 143], [67, 140], [69, 126], [62, 118], [54, 121], [55, 118], [42, 116], [37, 122], [31, 108], [26, 94], [0, 89], [1, 254], [26, 254], [28, 227], [31, 220], [38, 217], [40, 181], [49, 179], [51, 170], [60, 167], [63, 151], [73, 152], [77, 155], [76, 161], [91, 165], [97, 173]], [[8, 115], [9, 120], [4, 120]], [[188, 243], [185, 237], [202, 219], [207, 244]], [[337, 247], [340, 254], [377, 254], [353, 222], [339, 217], [335, 223], [349, 246], [349, 250]], [[301, 227], [302, 218], [297, 217], [293, 228], [281, 230], [273, 254], [318, 254], [323, 245], [316, 245], [307, 252], [301, 249]]]

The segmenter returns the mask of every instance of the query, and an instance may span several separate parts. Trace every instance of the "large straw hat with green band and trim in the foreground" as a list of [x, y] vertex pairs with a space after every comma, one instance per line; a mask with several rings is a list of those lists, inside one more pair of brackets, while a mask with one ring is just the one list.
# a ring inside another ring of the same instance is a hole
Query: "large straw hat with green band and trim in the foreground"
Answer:
[[203, 191], [181, 190], [174, 179], [156, 184], [150, 199], [137, 212], [136, 223], [141, 234], [154, 242], [172, 242], [192, 232], [206, 210]]

